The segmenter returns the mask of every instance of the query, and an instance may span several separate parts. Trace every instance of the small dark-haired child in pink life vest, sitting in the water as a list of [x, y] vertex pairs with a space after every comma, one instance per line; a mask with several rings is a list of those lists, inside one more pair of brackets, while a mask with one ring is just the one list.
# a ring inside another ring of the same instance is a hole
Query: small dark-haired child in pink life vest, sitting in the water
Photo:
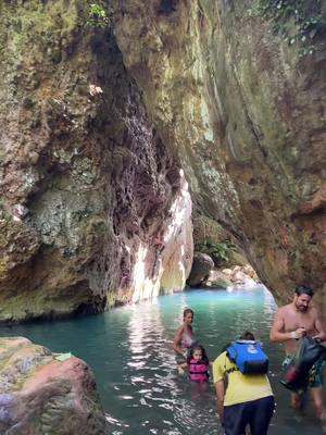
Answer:
[[210, 365], [211, 362], [209, 361], [205, 349], [200, 345], [195, 345], [190, 348], [187, 362], [178, 365], [178, 372], [179, 374], [184, 374], [185, 371], [187, 371], [190, 381], [198, 383], [208, 382], [210, 377]]

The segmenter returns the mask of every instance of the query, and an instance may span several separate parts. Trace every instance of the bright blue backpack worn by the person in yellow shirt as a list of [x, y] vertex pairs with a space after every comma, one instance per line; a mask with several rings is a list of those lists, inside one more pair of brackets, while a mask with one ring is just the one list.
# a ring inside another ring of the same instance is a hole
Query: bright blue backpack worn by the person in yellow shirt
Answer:
[[226, 355], [237, 365], [237, 368], [227, 370], [226, 373], [236, 370], [243, 374], [266, 374], [268, 372], [268, 357], [259, 341], [233, 341], [226, 349]]

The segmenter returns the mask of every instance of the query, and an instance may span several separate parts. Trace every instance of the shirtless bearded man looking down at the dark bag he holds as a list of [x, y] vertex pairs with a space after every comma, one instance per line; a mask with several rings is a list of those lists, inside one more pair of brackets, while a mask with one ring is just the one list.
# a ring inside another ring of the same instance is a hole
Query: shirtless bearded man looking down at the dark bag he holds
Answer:
[[[271, 340], [285, 344], [287, 358], [284, 364], [289, 362], [289, 357], [296, 353], [298, 339], [308, 335], [326, 340], [326, 332], [322, 325], [317, 311], [310, 306], [313, 290], [310, 287], [296, 287], [291, 303], [278, 309], [271, 330]], [[313, 366], [314, 378], [310, 381], [311, 395], [316, 409], [317, 418], [326, 420], [326, 410], [323, 397], [323, 366]], [[302, 407], [302, 396], [291, 394], [291, 405], [296, 409]]]

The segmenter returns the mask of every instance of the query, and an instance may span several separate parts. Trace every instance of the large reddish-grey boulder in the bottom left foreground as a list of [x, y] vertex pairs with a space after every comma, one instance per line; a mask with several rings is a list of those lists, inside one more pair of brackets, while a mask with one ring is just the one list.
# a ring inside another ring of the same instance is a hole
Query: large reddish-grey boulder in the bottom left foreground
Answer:
[[89, 366], [23, 337], [0, 338], [0, 433], [109, 434]]

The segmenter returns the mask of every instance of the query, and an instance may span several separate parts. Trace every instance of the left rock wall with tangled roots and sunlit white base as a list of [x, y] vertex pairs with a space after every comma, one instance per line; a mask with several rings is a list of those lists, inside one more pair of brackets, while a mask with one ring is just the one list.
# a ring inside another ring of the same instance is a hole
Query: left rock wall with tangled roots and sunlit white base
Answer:
[[101, 311], [191, 265], [180, 166], [85, 3], [0, 5], [0, 320]]

